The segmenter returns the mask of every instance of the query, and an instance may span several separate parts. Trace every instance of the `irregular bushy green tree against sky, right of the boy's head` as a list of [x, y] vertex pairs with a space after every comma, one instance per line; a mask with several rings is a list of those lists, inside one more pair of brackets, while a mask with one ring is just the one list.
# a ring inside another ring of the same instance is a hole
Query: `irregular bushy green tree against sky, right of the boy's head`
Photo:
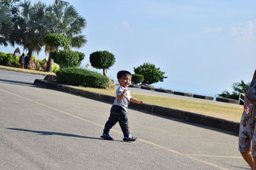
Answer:
[[133, 68], [134, 73], [144, 76], [144, 80], [142, 81], [142, 83], [146, 83], [148, 85], [152, 83], [157, 83], [159, 81], [164, 81], [164, 78], [167, 78], [166, 76], [164, 76], [164, 72], [161, 71], [159, 67], [156, 67], [154, 64], [150, 64], [149, 62]]

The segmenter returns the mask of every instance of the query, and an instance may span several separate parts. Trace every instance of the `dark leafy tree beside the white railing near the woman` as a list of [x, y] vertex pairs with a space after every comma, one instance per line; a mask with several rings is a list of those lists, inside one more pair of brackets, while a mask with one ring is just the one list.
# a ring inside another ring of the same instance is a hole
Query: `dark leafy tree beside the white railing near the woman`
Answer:
[[246, 93], [246, 90], [248, 89], [249, 85], [250, 85], [250, 82], [244, 83], [244, 81], [241, 80], [241, 82], [232, 84], [232, 89], [233, 89], [232, 93], [228, 92], [228, 90], [224, 90], [223, 92], [221, 92], [221, 94], [218, 94], [218, 96], [225, 97], [228, 99], [238, 100], [239, 94]]

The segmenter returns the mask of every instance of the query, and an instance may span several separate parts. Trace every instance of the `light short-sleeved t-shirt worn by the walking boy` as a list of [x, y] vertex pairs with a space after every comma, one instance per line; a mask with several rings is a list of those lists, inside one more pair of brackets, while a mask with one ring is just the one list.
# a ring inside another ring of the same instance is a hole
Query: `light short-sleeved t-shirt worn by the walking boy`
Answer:
[[122, 87], [122, 85], [120, 85], [116, 89], [116, 99], [115, 99], [113, 104], [117, 105], [117, 106], [121, 106], [122, 108], [124, 108], [125, 111], [127, 111], [129, 101], [132, 97], [131, 94], [130, 94], [130, 91], [127, 90], [125, 96], [123, 97], [123, 99], [121, 101], [118, 101], [118, 99], [117, 99], [117, 96], [120, 96], [124, 92], [124, 89], [127, 90], [127, 88]]

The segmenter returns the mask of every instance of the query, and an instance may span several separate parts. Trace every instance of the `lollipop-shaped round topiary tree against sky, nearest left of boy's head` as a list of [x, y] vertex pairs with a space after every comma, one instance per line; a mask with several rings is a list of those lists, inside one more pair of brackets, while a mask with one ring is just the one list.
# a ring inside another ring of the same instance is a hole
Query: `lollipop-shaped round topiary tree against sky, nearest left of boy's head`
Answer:
[[108, 51], [97, 51], [90, 54], [90, 63], [97, 69], [103, 69], [103, 75], [108, 76], [108, 69], [115, 64], [115, 55]]

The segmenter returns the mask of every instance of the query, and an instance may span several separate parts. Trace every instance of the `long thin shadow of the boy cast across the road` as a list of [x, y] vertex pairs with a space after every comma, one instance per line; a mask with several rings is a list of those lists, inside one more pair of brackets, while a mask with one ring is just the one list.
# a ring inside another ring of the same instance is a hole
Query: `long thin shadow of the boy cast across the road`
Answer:
[[[105, 139], [102, 139], [102, 138], [93, 138], [93, 137], [88, 137], [88, 136], [80, 136], [80, 135], [76, 135], [76, 134], [66, 134], [66, 133], [60, 133], [60, 132], [32, 131], [32, 130], [29, 130], [29, 129], [19, 129], [19, 128], [6, 128], [6, 129], [15, 130], [15, 131], [33, 132], [33, 133], [36, 133], [38, 135], [59, 135], [59, 136], [68, 136], [68, 137], [75, 137], [75, 138], [105, 140]], [[114, 141], [118, 141], [118, 140], [114, 140]], [[123, 142], [123, 141], [121, 141], [121, 142]]]

